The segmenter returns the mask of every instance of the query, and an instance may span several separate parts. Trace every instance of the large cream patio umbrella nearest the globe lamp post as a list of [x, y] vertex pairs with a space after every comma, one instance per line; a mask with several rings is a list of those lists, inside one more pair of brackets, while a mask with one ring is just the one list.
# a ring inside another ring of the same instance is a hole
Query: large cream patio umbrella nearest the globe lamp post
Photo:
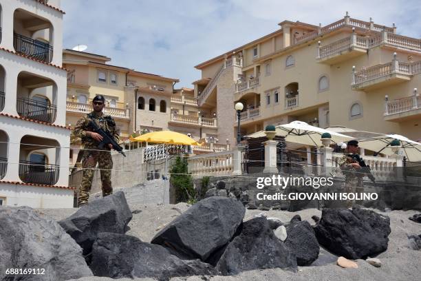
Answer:
[[[345, 136], [327, 129], [308, 125], [302, 121], [292, 121], [288, 124], [277, 125], [275, 127], [275, 132], [277, 132], [277, 136], [285, 137], [285, 141], [290, 143], [300, 143], [301, 145], [316, 147], [320, 147], [322, 145], [320, 139], [321, 135], [324, 133], [329, 133], [332, 136], [332, 141], [334, 143], [341, 143], [354, 139], [350, 136]], [[259, 138], [261, 136], [266, 136], [264, 131], [248, 135], [250, 138]]]

